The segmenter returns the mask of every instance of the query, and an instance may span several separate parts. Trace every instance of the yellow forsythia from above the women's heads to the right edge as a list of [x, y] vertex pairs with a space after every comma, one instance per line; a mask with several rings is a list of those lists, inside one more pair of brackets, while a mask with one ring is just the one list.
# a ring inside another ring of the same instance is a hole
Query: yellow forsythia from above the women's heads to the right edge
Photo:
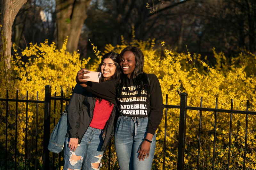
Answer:
[[[244, 49], [237, 51], [230, 61], [225, 55], [217, 53], [213, 48], [216, 64], [210, 66], [207, 56], [201, 60], [201, 55], [177, 53], [171, 49], [155, 49], [155, 41], [122, 42], [113, 47], [108, 44], [106, 52], [120, 51], [127, 45], [139, 47], [145, 56], [144, 71], [154, 73], [159, 78], [163, 101], [168, 94], [169, 105], [180, 105], [180, 92], [188, 93], [188, 106], [200, 107], [200, 97], [203, 97], [203, 107], [215, 108], [218, 98], [218, 108], [230, 109], [231, 99], [234, 100], [234, 110], [246, 110], [249, 100], [249, 111], [256, 111], [256, 56]], [[164, 41], [161, 44], [165, 47]], [[164, 55], [161, 52], [164, 50]], [[165, 104], [165, 103], [164, 103]], [[167, 139], [165, 169], [177, 169], [179, 109], [169, 109], [167, 114]], [[196, 169], [198, 152], [199, 111], [187, 111], [187, 130], [185, 148], [185, 167]], [[256, 169], [255, 119], [249, 115], [246, 150], [246, 169]], [[165, 117], [157, 130], [157, 144], [152, 169], [163, 168], [164, 124]], [[200, 169], [212, 169], [214, 113], [202, 113]], [[242, 169], [244, 156], [246, 115], [233, 114], [232, 137], [230, 151], [230, 169]], [[215, 151], [215, 169], [227, 169], [229, 143], [230, 114], [217, 114], [217, 133]]]

